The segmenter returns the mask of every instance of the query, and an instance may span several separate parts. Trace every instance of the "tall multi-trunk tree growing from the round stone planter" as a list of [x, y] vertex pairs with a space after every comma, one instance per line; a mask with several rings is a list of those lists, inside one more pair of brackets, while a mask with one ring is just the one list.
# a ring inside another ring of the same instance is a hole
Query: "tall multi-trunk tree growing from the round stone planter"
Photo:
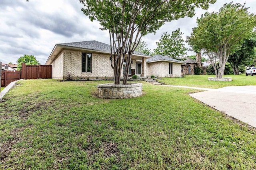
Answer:
[[[156, 33], [164, 23], [194, 16], [194, 8], [207, 9], [216, 0], [80, 0], [82, 12], [98, 20], [110, 35], [110, 62], [114, 83], [121, 84], [121, 69], [126, 60], [123, 84], [127, 83], [132, 54], [140, 39]], [[135, 43], [133, 43], [135, 42]]]

